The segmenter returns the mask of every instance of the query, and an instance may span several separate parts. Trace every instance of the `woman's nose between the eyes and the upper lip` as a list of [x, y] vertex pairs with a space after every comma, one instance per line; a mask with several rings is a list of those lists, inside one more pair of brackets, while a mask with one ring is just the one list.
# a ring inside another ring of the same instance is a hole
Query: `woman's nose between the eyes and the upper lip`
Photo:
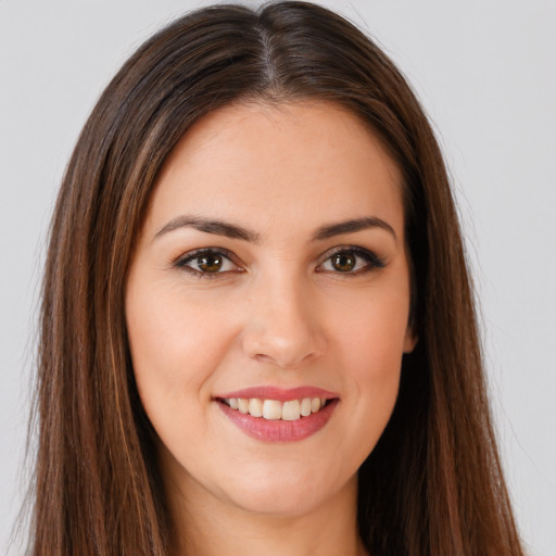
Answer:
[[262, 281], [243, 329], [244, 353], [282, 369], [296, 369], [319, 357], [326, 340], [308, 288], [294, 278]]

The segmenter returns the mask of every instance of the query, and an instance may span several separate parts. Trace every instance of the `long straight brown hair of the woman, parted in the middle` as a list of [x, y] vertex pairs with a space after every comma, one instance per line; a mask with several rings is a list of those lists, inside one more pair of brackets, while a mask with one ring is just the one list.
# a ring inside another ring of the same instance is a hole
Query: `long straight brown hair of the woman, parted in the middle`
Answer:
[[412, 324], [399, 400], [359, 470], [370, 554], [521, 555], [489, 414], [473, 298], [442, 155], [409, 86], [353, 25], [305, 2], [202, 9], [148, 40], [100, 98], [50, 233], [38, 364], [31, 553], [172, 554], [153, 431], [124, 317], [135, 240], [161, 165], [233, 102], [336, 102], [404, 176]]

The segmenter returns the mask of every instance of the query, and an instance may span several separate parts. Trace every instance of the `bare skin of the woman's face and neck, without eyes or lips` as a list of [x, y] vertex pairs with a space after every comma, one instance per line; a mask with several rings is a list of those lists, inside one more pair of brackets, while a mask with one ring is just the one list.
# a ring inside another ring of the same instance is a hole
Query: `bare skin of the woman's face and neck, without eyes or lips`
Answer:
[[[176, 227], [181, 215], [232, 223], [257, 242]], [[391, 230], [314, 238], [369, 216]], [[353, 269], [334, 266], [339, 247], [352, 249]], [[229, 260], [215, 273], [199, 260], [176, 266], [202, 248]], [[355, 116], [324, 102], [251, 103], [195, 124], [157, 179], [126, 291], [182, 554], [364, 554], [356, 473], [415, 344], [408, 312], [400, 172]], [[263, 384], [324, 388], [340, 401], [312, 437], [263, 442], [214, 399]]]

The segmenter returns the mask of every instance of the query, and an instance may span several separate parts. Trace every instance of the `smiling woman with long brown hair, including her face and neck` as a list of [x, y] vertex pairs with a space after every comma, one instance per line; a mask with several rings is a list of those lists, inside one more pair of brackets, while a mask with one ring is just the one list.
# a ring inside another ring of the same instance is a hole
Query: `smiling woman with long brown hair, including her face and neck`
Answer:
[[190, 14], [51, 230], [34, 554], [521, 554], [433, 134], [307, 3]]

